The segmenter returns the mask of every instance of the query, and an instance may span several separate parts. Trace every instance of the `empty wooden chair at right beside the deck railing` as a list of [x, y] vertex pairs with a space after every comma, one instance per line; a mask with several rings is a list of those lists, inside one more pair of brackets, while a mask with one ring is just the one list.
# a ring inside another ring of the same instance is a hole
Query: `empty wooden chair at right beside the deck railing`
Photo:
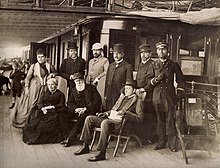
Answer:
[[[185, 93], [179, 98], [176, 111], [176, 129], [185, 163], [188, 164], [186, 145], [189, 141], [206, 140], [210, 142], [215, 136], [210, 134], [207, 102], [210, 98], [203, 94]], [[202, 129], [192, 133], [193, 129]], [[208, 147], [209, 151], [211, 148]]]

